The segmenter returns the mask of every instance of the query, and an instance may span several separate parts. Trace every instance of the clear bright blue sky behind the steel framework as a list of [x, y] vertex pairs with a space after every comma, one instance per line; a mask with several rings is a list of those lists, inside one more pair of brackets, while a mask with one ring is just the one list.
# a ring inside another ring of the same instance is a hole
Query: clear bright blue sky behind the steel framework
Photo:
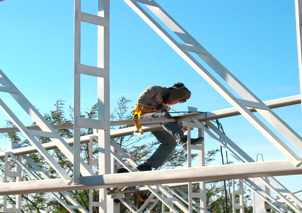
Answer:
[[[157, 2], [260, 99], [300, 94], [294, 0]], [[97, 1], [82, 0], [82, 11], [96, 14]], [[231, 107], [124, 1], [111, 0], [110, 13], [111, 109], [121, 95], [132, 100], [129, 106], [133, 106], [146, 87], [169, 87], [177, 81], [186, 84], [192, 97], [174, 110]], [[57, 99], [72, 105], [73, 1], [6, 0], [0, 2], [0, 19], [0, 69], [42, 114]], [[96, 30], [92, 24], [82, 24], [84, 64], [96, 65]], [[83, 77], [82, 82], [81, 110], [85, 111], [97, 102], [97, 85], [94, 77]], [[9, 101], [26, 125], [31, 124], [6, 94], [1, 98]], [[300, 104], [274, 111], [302, 134]], [[1, 127], [5, 120], [0, 113]], [[285, 159], [242, 116], [221, 122], [226, 134], [254, 159], [257, 153], [264, 160]], [[3, 150], [7, 144], [2, 140]], [[219, 148], [208, 136], [205, 141], [207, 150]], [[299, 178], [279, 177], [291, 190], [302, 188]]]

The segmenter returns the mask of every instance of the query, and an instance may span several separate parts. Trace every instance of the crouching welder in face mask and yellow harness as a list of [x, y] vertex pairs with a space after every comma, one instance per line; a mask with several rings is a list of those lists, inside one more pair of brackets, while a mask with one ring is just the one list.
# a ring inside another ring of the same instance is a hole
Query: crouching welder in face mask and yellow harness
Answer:
[[[191, 97], [191, 92], [181, 82], [166, 88], [161, 86], [147, 87], [140, 94], [137, 103], [132, 110], [133, 119], [152, 119], [172, 117], [168, 112], [171, 105], [184, 103]], [[177, 122], [161, 123], [162, 130], [153, 131], [153, 135], [160, 142], [156, 151], [143, 164], [137, 167], [139, 171], [150, 171], [153, 168], [160, 167], [175, 149], [178, 142], [182, 143], [183, 148], [187, 148], [187, 135], [184, 135]], [[137, 123], [137, 129], [141, 132]], [[141, 132], [142, 133], [142, 132]], [[199, 144], [204, 138], [192, 138], [191, 144]]]

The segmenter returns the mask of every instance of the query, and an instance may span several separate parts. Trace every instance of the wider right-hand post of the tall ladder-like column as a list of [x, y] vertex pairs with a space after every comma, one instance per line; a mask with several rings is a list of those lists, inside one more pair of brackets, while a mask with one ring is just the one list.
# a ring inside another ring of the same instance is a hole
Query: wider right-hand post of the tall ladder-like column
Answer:
[[[109, 0], [98, 0], [98, 16], [108, 19]], [[98, 67], [109, 70], [109, 24], [108, 27], [98, 25]], [[98, 77], [98, 119], [110, 121], [109, 77]], [[110, 174], [110, 129], [98, 130], [98, 174]], [[99, 190], [99, 201], [107, 200], [106, 189]], [[107, 205], [107, 204], [106, 204]], [[106, 213], [107, 207], [99, 208], [100, 213]], [[108, 206], [109, 207], [109, 206]]]

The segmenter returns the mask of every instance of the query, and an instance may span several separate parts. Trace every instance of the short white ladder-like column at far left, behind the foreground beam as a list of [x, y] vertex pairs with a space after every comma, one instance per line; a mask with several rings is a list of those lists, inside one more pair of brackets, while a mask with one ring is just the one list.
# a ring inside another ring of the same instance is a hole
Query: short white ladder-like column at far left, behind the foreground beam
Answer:
[[[13, 143], [11, 141], [8, 142], [8, 149], [16, 149], [21, 148], [21, 144]], [[22, 156], [18, 156], [19, 161], [22, 161]], [[21, 181], [22, 178], [22, 169], [19, 164], [16, 165], [16, 172], [9, 172], [8, 171], [8, 152], [5, 152], [4, 156], [4, 183], [8, 182], [8, 177], [15, 177], [16, 182]], [[3, 213], [8, 212], [15, 212], [15, 213], [21, 213], [21, 195], [16, 195], [16, 201], [15, 201], [15, 208], [7, 208], [7, 196], [4, 196], [3, 201]]]

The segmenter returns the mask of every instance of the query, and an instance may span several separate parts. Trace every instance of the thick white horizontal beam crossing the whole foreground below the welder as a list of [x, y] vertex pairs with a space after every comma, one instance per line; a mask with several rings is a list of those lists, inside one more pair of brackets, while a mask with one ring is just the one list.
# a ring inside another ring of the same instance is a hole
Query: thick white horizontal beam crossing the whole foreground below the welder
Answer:
[[251, 177], [302, 174], [289, 160], [226, 164], [218, 166], [155, 170], [81, 177], [81, 184], [67, 185], [62, 179], [22, 181], [0, 184], [0, 196], [40, 192], [71, 191], [122, 186], [140, 186], [194, 181], [219, 181]]

